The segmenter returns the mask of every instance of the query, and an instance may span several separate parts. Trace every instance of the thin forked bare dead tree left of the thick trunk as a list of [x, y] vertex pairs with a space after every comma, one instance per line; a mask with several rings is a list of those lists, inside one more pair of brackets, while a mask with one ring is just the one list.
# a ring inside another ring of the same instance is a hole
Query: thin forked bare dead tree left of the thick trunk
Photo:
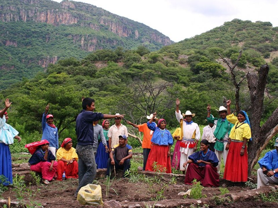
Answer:
[[238, 55], [237, 60], [236, 60], [236, 62], [235, 62], [235, 64], [233, 66], [231, 66], [230, 62], [228, 62], [228, 60], [226, 58], [223, 58], [220, 53], [218, 53], [218, 55], [227, 64], [227, 66], [229, 68], [229, 71], [231, 73], [231, 80], [232, 80], [233, 85], [235, 86], [235, 107], [236, 107], [236, 111], [239, 112], [240, 111], [239, 90], [240, 90], [240, 85], [244, 81], [246, 76], [242, 77], [242, 79], [240, 81], [237, 81], [236, 73], [235, 73], [235, 67], [237, 66], [237, 64], [239, 62], [239, 59], [240, 59], [240, 57], [242, 55], [242, 51], [239, 51], [239, 55]]

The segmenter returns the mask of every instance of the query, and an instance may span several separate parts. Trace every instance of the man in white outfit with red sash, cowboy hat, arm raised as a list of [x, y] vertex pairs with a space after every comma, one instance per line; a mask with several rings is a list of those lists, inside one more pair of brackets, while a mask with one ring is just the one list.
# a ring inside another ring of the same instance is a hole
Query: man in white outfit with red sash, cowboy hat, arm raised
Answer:
[[[192, 121], [195, 114], [189, 110], [185, 114], [181, 114], [179, 110], [180, 100], [176, 99], [176, 118], [180, 123], [182, 142], [180, 143], [180, 170], [185, 174], [187, 166], [183, 164], [189, 159], [188, 157], [197, 150], [197, 145], [200, 140], [200, 129], [197, 123]], [[185, 119], [184, 119], [185, 117]]]

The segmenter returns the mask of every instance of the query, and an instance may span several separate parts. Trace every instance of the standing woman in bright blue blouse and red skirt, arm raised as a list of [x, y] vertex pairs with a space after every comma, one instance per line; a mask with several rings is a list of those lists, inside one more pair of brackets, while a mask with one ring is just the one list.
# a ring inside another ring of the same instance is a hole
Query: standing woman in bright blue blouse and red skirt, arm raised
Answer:
[[153, 137], [151, 142], [153, 146], [149, 153], [149, 157], [146, 164], [147, 171], [160, 171], [171, 173], [171, 158], [170, 158], [170, 149], [173, 145], [173, 137], [166, 127], [166, 121], [161, 118], [156, 123], [153, 122], [153, 119], [156, 117], [156, 112], [153, 113], [151, 120], [147, 122], [149, 129], [153, 131]]

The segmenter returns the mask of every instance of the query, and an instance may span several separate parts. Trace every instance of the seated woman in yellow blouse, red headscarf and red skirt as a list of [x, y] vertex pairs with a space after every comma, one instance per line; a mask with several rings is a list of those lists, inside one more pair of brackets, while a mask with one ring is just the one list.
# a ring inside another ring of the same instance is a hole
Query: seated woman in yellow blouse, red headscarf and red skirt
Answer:
[[57, 153], [58, 168], [57, 180], [62, 180], [62, 175], [65, 172], [67, 178], [78, 178], [78, 156], [75, 148], [72, 147], [72, 139], [65, 138]]

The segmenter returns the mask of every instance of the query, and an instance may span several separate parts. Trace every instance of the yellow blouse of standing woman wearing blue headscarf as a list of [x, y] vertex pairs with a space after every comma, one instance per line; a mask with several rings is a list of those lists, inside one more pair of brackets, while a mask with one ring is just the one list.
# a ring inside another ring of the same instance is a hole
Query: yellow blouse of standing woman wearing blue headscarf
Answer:
[[249, 139], [251, 138], [251, 129], [248, 123], [240, 123], [237, 120], [237, 116], [234, 114], [230, 114], [226, 116], [227, 120], [234, 124], [234, 126], [231, 129], [231, 133], [229, 137], [233, 140], [239, 140], [243, 141], [244, 139]]

